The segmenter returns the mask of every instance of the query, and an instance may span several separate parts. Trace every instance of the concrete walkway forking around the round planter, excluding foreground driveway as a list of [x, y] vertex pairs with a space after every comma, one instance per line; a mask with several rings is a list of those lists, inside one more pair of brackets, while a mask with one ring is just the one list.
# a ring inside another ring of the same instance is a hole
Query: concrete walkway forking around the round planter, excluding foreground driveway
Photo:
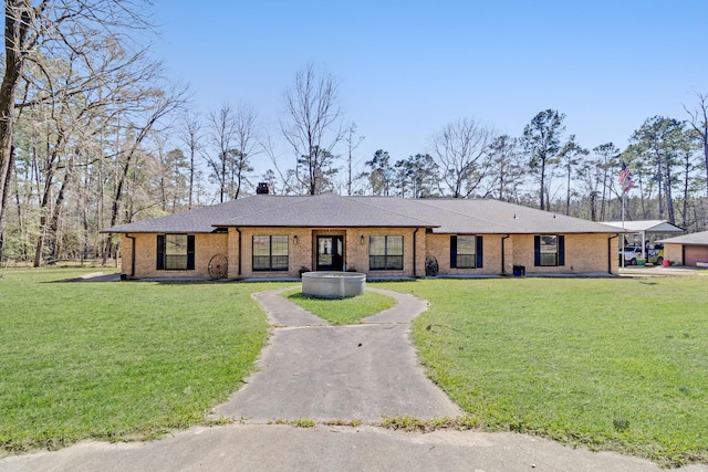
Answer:
[[396, 298], [396, 305], [360, 325], [329, 326], [281, 292], [254, 295], [278, 327], [259, 370], [216, 409], [217, 416], [263, 423], [461, 415], [424, 375], [408, 340], [408, 323], [427, 310], [427, 302], [377, 290]]

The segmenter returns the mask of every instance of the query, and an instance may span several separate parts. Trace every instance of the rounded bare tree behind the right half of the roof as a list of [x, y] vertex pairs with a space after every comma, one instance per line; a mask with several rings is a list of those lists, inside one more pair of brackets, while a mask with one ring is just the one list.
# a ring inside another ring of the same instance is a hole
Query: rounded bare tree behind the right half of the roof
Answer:
[[433, 153], [447, 192], [469, 197], [490, 176], [492, 159], [487, 147], [492, 133], [472, 118], [459, 118], [433, 137]]

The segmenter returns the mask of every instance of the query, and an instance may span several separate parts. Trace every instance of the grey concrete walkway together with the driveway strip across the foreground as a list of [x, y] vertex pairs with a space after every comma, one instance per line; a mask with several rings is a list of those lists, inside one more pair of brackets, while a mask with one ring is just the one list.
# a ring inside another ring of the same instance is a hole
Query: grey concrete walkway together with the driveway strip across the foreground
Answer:
[[[153, 442], [86, 441], [9, 457], [0, 460], [0, 471], [662, 471], [646, 460], [524, 434], [377, 427], [382, 415], [460, 415], [425, 377], [408, 340], [409, 322], [427, 303], [378, 292], [397, 305], [356, 326], [329, 326], [278, 291], [257, 294], [273, 335], [259, 370], [215, 409], [215, 417], [235, 419], [231, 424], [195, 427]], [[273, 424], [299, 419], [317, 424]], [[331, 426], [352, 420], [364, 424]]]

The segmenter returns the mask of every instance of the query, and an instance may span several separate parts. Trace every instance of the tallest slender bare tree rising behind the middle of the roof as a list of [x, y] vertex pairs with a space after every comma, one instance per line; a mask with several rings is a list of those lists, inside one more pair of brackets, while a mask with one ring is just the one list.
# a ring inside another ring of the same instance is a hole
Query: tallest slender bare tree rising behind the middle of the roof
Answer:
[[296, 155], [298, 180], [310, 195], [320, 193], [335, 159], [334, 148], [344, 138], [337, 82], [310, 64], [295, 74], [284, 94], [285, 116], [280, 128]]

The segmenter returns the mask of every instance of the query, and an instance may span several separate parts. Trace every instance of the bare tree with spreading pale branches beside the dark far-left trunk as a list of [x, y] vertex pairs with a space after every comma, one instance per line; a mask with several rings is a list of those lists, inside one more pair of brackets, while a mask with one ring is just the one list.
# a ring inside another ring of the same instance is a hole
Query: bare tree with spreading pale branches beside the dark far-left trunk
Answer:
[[156, 70], [154, 63], [144, 61], [143, 52], [129, 55], [112, 42], [91, 55], [70, 53], [53, 61], [39, 57], [25, 67], [25, 92], [18, 107], [27, 113], [22, 119], [18, 114], [17, 123], [34, 129], [32, 135], [41, 135], [45, 143], [37, 174], [38, 183], [41, 178], [41, 218], [35, 266], [41, 264], [45, 242], [52, 256], [58, 255], [62, 209], [77, 181], [77, 161], [91, 166], [103, 158], [101, 135], [106, 127], [116, 126], [112, 124], [116, 114], [139, 109], [146, 96], [155, 93], [146, 92], [143, 82], [155, 80]]

